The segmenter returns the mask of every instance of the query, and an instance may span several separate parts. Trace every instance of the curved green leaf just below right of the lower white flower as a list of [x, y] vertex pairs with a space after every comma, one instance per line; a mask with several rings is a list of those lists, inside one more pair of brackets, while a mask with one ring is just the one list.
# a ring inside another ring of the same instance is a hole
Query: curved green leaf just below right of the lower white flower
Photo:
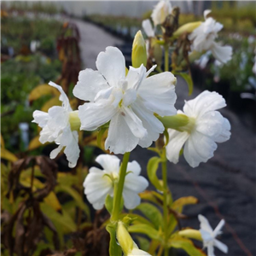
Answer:
[[149, 203], [142, 203], [138, 207], [136, 207], [136, 209], [140, 212], [143, 212], [146, 218], [148, 218], [152, 222], [152, 224], [154, 224], [155, 229], [158, 230], [160, 228], [163, 217], [157, 207], [154, 207]]

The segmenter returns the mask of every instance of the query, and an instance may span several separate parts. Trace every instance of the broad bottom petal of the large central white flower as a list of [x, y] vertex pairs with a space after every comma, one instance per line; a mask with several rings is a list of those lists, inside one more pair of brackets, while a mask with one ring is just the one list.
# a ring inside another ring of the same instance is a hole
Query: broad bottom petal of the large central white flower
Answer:
[[[118, 136], [117, 136], [118, 135]], [[139, 138], [135, 137], [121, 113], [117, 113], [110, 121], [105, 149], [114, 154], [131, 152], [137, 146]]]

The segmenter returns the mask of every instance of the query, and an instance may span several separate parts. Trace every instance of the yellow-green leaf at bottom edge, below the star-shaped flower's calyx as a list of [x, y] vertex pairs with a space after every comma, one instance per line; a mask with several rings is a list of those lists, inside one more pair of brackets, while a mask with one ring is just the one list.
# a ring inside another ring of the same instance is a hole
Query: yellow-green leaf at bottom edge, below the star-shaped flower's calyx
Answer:
[[193, 242], [181, 236], [175, 236], [168, 241], [168, 247], [183, 249], [190, 256], [205, 256], [206, 254], [194, 246]]

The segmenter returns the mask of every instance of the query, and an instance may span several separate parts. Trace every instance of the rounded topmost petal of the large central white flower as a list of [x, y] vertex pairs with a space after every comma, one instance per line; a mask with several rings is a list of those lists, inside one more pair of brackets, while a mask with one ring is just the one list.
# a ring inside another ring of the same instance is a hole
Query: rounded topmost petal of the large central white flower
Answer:
[[125, 57], [116, 47], [108, 46], [105, 52], [101, 52], [96, 67], [110, 86], [118, 87], [119, 81], [125, 79]]

